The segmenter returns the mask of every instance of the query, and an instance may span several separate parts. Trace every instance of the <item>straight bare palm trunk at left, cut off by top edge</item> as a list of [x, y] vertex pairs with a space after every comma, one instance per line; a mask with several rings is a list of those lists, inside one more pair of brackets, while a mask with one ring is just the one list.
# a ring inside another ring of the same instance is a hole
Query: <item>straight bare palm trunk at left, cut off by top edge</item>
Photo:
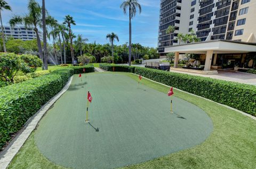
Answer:
[[48, 70], [45, 0], [42, 0], [42, 25], [43, 25], [43, 44], [44, 44], [44, 70]]

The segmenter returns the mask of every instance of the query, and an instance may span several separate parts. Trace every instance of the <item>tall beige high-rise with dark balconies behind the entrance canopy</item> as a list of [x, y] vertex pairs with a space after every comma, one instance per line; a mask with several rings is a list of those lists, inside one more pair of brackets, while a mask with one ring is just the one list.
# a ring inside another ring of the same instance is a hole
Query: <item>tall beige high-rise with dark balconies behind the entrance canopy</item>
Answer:
[[[177, 35], [194, 30], [201, 41], [227, 39], [256, 43], [256, 0], [161, 0], [158, 52], [183, 44]], [[174, 26], [172, 34], [166, 29]]]

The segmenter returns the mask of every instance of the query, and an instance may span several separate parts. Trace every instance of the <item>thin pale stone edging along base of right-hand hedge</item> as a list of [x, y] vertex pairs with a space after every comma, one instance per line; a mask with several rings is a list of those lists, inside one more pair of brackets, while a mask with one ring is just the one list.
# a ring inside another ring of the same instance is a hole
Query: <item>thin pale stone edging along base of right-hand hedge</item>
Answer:
[[[133, 74], [133, 73], [132, 73], [132, 74]], [[137, 74], [133, 74], [133, 75], [137, 75]], [[139, 76], [139, 75], [137, 75], [137, 76]], [[143, 76], [142, 76], [142, 77], [143, 77]], [[165, 84], [163, 84], [163, 83], [159, 83], [159, 82], [153, 81], [153, 80], [151, 80], [151, 79], [149, 79], [149, 78], [146, 78], [146, 77], [143, 77], [143, 78], [145, 78], [145, 79], [147, 79], [147, 80], [149, 80], [149, 81], [151, 81], [151, 82], [155, 82], [155, 83], [164, 85], [164, 86], [166, 86], [166, 87], [171, 87], [171, 86], [165, 85]], [[173, 88], [174, 88], [174, 87], [173, 87]], [[202, 96], [199, 96], [199, 95], [196, 95], [196, 94], [192, 94], [192, 93], [189, 93], [189, 92], [186, 92], [186, 91], [182, 91], [182, 90], [180, 90], [180, 89], [178, 89], [178, 88], [174, 88], [174, 89], [175, 89], [175, 90], [178, 90], [178, 91], [180, 91], [180, 92], [184, 92], [184, 93], [187, 93], [187, 94], [190, 94], [190, 95], [194, 95], [194, 96], [197, 96], [198, 98], [201, 98], [201, 99], [204, 99], [204, 100], [207, 100], [207, 101], [210, 101], [210, 102], [219, 104], [220, 106], [224, 106], [224, 107], [226, 107], [226, 108], [228, 108], [228, 109], [234, 110], [234, 111], [239, 112], [240, 114], [242, 114], [242, 115], [244, 115], [244, 116], [247, 116], [247, 117], [250, 117], [250, 118], [256, 120], [256, 117], [254, 117], [254, 116], [252, 116], [252, 115], [250, 115], [250, 114], [247, 114], [246, 112], [237, 110], [237, 109], [235, 109], [235, 108], [233, 108], [233, 107], [229, 107], [229, 106], [227, 106], [227, 105], [225, 105], [225, 104], [221, 104], [221, 103], [212, 101], [212, 100], [210, 100], [210, 99], [203, 98]]]

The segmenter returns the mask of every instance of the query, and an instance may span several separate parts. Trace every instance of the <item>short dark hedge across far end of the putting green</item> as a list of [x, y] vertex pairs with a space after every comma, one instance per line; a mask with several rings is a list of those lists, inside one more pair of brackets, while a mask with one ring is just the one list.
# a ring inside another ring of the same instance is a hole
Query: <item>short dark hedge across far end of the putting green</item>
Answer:
[[[115, 67], [115, 69], [113, 69]], [[107, 70], [107, 71], [124, 71], [134, 73], [135, 67], [134, 66], [125, 66], [125, 65], [110, 65], [107, 63], [100, 64], [100, 68]]]

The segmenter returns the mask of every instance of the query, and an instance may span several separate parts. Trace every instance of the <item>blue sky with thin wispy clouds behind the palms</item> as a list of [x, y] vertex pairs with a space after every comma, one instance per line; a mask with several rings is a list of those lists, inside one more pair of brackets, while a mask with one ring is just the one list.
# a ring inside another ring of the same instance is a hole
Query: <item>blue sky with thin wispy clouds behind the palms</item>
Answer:
[[[39, 3], [41, 1], [37, 0]], [[12, 12], [3, 11], [3, 24], [6, 25], [14, 14], [27, 12], [27, 0], [6, 0]], [[123, 14], [120, 5], [123, 0], [46, 0], [47, 11], [59, 22], [70, 14], [76, 21], [72, 29], [82, 34], [89, 42], [108, 43], [106, 35], [114, 32], [119, 43], [129, 42], [129, 18]], [[138, 0], [142, 13], [132, 20], [132, 42], [156, 47], [159, 20], [159, 0]]]

